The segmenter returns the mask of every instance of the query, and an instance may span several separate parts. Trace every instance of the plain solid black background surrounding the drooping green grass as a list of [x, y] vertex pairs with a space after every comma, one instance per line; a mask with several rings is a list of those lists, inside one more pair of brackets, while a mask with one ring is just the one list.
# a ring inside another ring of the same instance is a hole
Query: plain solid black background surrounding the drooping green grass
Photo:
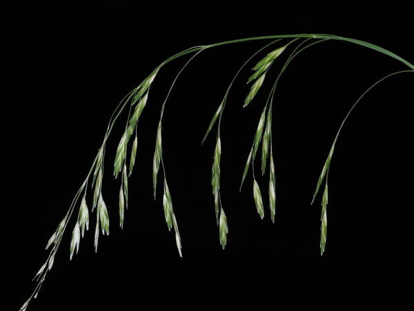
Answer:
[[[88, 171], [115, 105], [160, 62], [190, 46], [302, 32], [362, 39], [413, 62], [406, 11], [395, 3], [382, 10], [349, 4], [322, 10], [315, 3], [258, 1], [14, 8], [17, 14], [3, 19], [2, 49], [4, 94], [10, 95], [2, 118], [10, 310], [34, 288], [30, 279], [47, 256], [43, 247]], [[8, 17], [8, 10], [3, 15]], [[328, 41], [310, 48], [282, 77], [273, 121], [275, 225], [268, 209], [259, 219], [250, 175], [241, 193], [238, 187], [282, 61], [246, 109], [248, 70], [237, 79], [221, 129], [221, 196], [229, 226], [228, 245], [221, 249], [210, 189], [215, 131], [203, 147], [201, 138], [239, 66], [264, 44], [201, 53], [179, 77], [166, 105], [164, 159], [184, 257], [166, 229], [161, 199], [152, 199], [151, 174], [161, 102], [185, 57], [161, 70], [141, 115], [124, 230], [117, 226], [119, 181], [110, 171], [126, 115], [107, 146], [103, 191], [110, 236], [100, 238], [95, 254], [92, 229], [69, 262], [68, 229], [29, 310], [221, 308], [236, 302], [277, 307], [286, 297], [292, 297], [290, 303], [334, 297], [342, 305], [407, 298], [413, 236], [410, 73], [375, 88], [344, 126], [331, 165], [326, 252], [319, 255], [320, 197], [313, 207], [310, 202], [335, 132], [366, 88], [406, 69], [353, 44]], [[258, 179], [265, 206], [267, 178]]]

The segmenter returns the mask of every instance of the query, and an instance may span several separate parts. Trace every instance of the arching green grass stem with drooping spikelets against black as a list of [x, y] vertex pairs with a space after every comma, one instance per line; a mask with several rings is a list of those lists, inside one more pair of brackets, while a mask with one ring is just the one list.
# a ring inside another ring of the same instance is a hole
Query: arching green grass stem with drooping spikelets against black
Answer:
[[[217, 136], [215, 140], [215, 149], [213, 152], [213, 165], [212, 165], [212, 175], [211, 175], [211, 186], [213, 192], [213, 203], [215, 207], [215, 218], [217, 222], [217, 226], [219, 228], [219, 243], [221, 247], [224, 249], [226, 244], [228, 243], [228, 219], [224, 212], [224, 207], [221, 202], [221, 195], [220, 195], [220, 179], [221, 179], [221, 138], [220, 138], [220, 129], [221, 129], [221, 120], [223, 117], [223, 113], [226, 107], [226, 102], [228, 100], [228, 95], [230, 88], [233, 86], [236, 78], [242, 72], [247, 64], [249, 64], [257, 55], [266, 51], [266, 55], [262, 56], [259, 61], [255, 63], [253, 66], [253, 73], [250, 73], [248, 77], [247, 83], [252, 84], [248, 93], [246, 95], [246, 99], [244, 100], [244, 104], [242, 106], [246, 107], [250, 105], [250, 102], [255, 99], [257, 93], [262, 88], [266, 80], [270, 79], [270, 69], [273, 65], [276, 65], [284, 55], [286, 55], [286, 50], [288, 50], [289, 46], [296, 46], [293, 48], [293, 51], [288, 55], [286, 61], [284, 62], [282, 68], [279, 70], [279, 75], [277, 75], [273, 87], [268, 94], [267, 100], [264, 104], [262, 109], [262, 113], [260, 114], [259, 120], [257, 120], [257, 129], [255, 131], [255, 135], [253, 137], [253, 142], [250, 148], [250, 151], [247, 156], [246, 164], [244, 166], [244, 170], [242, 172], [242, 182], [240, 185], [240, 190], [242, 189], [242, 185], [244, 184], [247, 173], [251, 167], [252, 175], [253, 175], [253, 200], [255, 202], [255, 207], [257, 213], [259, 214], [260, 218], [264, 218], [265, 216], [265, 209], [264, 209], [264, 200], [262, 196], [262, 191], [259, 187], [259, 178], [255, 177], [255, 158], [257, 155], [257, 151], [260, 149], [260, 144], [262, 144], [262, 156], [261, 156], [261, 171], [262, 176], [266, 173], [266, 168], [268, 168], [268, 207], [270, 209], [270, 218], [275, 222], [276, 216], [276, 174], [275, 174], [275, 161], [273, 158], [273, 137], [272, 137], [272, 117], [273, 117], [273, 102], [275, 98], [275, 90], [276, 86], [279, 82], [279, 79], [286, 70], [288, 64], [297, 56], [299, 53], [302, 53], [306, 48], [313, 46], [314, 44], [318, 44], [319, 42], [323, 41], [330, 41], [330, 40], [339, 40], [339, 41], [346, 41], [351, 44], [356, 44], [357, 46], [364, 46], [365, 48], [370, 48], [371, 50], [375, 50], [379, 53], [382, 53], [388, 57], [396, 59], [397, 61], [404, 64], [404, 66], [408, 66], [408, 70], [400, 70], [395, 73], [391, 73], [383, 77], [379, 81], [375, 82], [370, 88], [368, 88], [359, 98], [358, 100], [351, 106], [351, 109], [348, 111], [347, 115], [344, 117], [342, 124], [339, 126], [339, 130], [335, 135], [335, 139], [333, 140], [333, 144], [331, 149], [328, 153], [326, 161], [322, 167], [322, 171], [319, 174], [319, 178], [317, 180], [316, 189], [313, 194], [312, 202], [315, 201], [317, 194], [319, 193], [320, 188], [324, 184], [324, 191], [322, 194], [322, 209], [321, 209], [321, 226], [320, 226], [320, 254], [324, 254], [326, 249], [326, 241], [327, 241], [327, 206], [328, 206], [328, 173], [331, 168], [331, 162], [333, 159], [333, 153], [335, 150], [335, 145], [337, 144], [337, 140], [339, 137], [339, 133], [344, 126], [348, 116], [353, 111], [357, 103], [368, 93], [371, 89], [383, 82], [385, 79], [389, 77], [393, 77], [394, 75], [401, 74], [401, 73], [414, 73], [414, 65], [410, 62], [406, 61], [402, 57], [395, 55], [394, 53], [381, 48], [380, 46], [376, 46], [375, 44], [368, 43], [366, 41], [361, 41], [358, 39], [351, 39], [346, 37], [339, 37], [335, 35], [323, 35], [323, 34], [298, 34], [298, 35], [271, 35], [271, 36], [264, 36], [264, 37], [250, 37], [245, 39], [236, 39], [230, 41], [223, 41], [217, 44], [210, 44], [208, 46], [195, 46], [193, 48], [188, 48], [183, 50], [180, 53], [172, 55], [168, 57], [164, 62], [162, 62], [159, 66], [152, 70], [152, 72], [146, 77], [139, 86], [132, 89], [122, 100], [119, 102], [118, 106], [116, 107], [114, 113], [112, 113], [110, 120], [108, 122], [108, 127], [106, 129], [106, 133], [103, 138], [103, 142], [101, 143], [97, 155], [92, 162], [90, 170], [88, 171], [85, 180], [83, 180], [81, 187], [79, 187], [75, 197], [73, 198], [68, 211], [63, 216], [57, 229], [55, 232], [52, 233], [50, 238], [46, 243], [46, 249], [49, 251], [48, 257], [46, 261], [41, 265], [39, 271], [34, 276], [34, 280], [37, 281], [37, 286], [29, 296], [29, 298], [23, 303], [20, 308], [20, 311], [26, 311], [31, 299], [37, 298], [39, 290], [41, 289], [41, 285], [46, 278], [48, 272], [52, 269], [53, 264], [55, 262], [55, 256], [57, 254], [57, 250], [59, 249], [59, 245], [63, 238], [64, 233], [66, 232], [66, 228], [68, 225], [72, 227], [72, 238], [70, 240], [69, 246], [69, 257], [70, 260], [79, 252], [81, 238], [86, 234], [90, 227], [90, 216], [92, 216], [93, 212], [96, 213], [96, 222], [95, 222], [95, 251], [97, 251], [99, 236], [102, 234], [109, 235], [109, 227], [110, 227], [110, 219], [108, 216], [108, 208], [106, 202], [103, 200], [103, 177], [104, 174], [104, 164], [105, 164], [105, 152], [106, 152], [106, 142], [110, 137], [110, 133], [112, 132], [115, 123], [117, 122], [121, 113], [124, 112], [125, 108], [128, 107], [128, 119], [125, 124], [124, 133], [121, 135], [119, 140], [117, 150], [115, 153], [115, 162], [113, 168], [113, 174], [115, 178], [121, 176], [120, 182], [121, 185], [119, 187], [119, 226], [121, 228], [124, 227], [124, 218], [126, 209], [128, 209], [128, 178], [132, 174], [132, 170], [135, 166], [135, 160], [137, 156], [137, 149], [138, 149], [138, 138], [137, 138], [137, 124], [139, 119], [146, 107], [148, 102], [148, 95], [150, 93], [150, 87], [152, 83], [155, 81], [159, 71], [163, 66], [172, 62], [174, 59], [179, 57], [184, 57], [186, 55], [193, 54], [192, 57], [186, 62], [186, 64], [179, 70], [175, 79], [173, 80], [168, 94], [166, 95], [166, 99], [164, 100], [161, 106], [161, 114], [159, 117], [158, 127], [157, 127], [157, 134], [155, 137], [155, 152], [154, 158], [152, 162], [152, 185], [154, 191], [154, 198], [157, 198], [157, 179], [160, 171], [162, 172], [163, 178], [163, 188], [164, 194], [162, 198], [162, 205], [164, 207], [164, 216], [167, 224], [168, 231], [174, 229], [175, 233], [175, 243], [177, 245], [177, 249], [179, 252], [179, 256], [182, 256], [182, 245], [181, 245], [181, 236], [179, 234], [179, 228], [177, 224], [177, 216], [175, 211], [172, 207], [172, 198], [170, 194], [170, 189], [168, 187], [167, 178], [166, 178], [166, 165], [164, 164], [164, 153], [162, 149], [162, 120], [164, 116], [164, 109], [166, 106], [166, 102], [168, 97], [172, 91], [173, 86], [175, 86], [175, 82], [177, 82], [177, 78], [181, 74], [181, 72], [188, 66], [188, 64], [199, 54], [201, 51], [206, 50], [208, 48], [215, 48], [218, 46], [224, 46], [228, 44], [237, 44], [242, 42], [248, 41], [259, 41], [270, 39], [273, 40], [269, 44], [266, 44], [256, 53], [254, 53], [247, 61], [239, 68], [235, 76], [230, 82], [230, 85], [226, 89], [224, 93], [224, 97], [222, 100], [217, 101], [219, 102], [219, 106], [215, 109], [215, 113], [213, 114], [213, 118], [208, 125], [208, 129], [206, 131], [206, 135], [202, 142], [206, 140], [210, 131], [212, 131], [213, 127], [217, 124]], [[290, 41], [285, 42], [286, 39], [290, 39]], [[282, 41], [280, 44], [279, 41]], [[273, 47], [270, 51], [268, 50], [270, 46], [278, 44], [277, 47]], [[250, 106], [249, 108], [250, 109]], [[132, 146], [130, 148], [130, 152], [128, 153], [128, 144], [130, 144], [130, 140], [132, 136], [135, 136], [132, 140]], [[129, 160], [128, 160], [129, 156]], [[268, 163], [268, 164], [267, 164]], [[90, 183], [91, 194], [87, 194], [88, 190], [88, 183]], [[79, 202], [80, 201], [80, 202]], [[89, 209], [88, 205], [91, 207]], [[76, 219], [72, 219], [73, 214], [77, 214]]]

